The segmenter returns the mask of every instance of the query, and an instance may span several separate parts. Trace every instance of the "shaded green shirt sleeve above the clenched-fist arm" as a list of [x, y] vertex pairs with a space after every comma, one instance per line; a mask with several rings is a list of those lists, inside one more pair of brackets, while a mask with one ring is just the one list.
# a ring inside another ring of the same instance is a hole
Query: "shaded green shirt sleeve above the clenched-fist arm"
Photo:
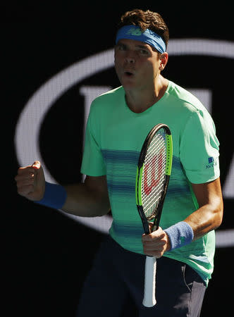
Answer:
[[98, 128], [98, 118], [95, 118], [91, 106], [85, 132], [85, 148], [82, 157], [81, 173], [90, 176], [106, 175], [106, 167], [101, 154]]

